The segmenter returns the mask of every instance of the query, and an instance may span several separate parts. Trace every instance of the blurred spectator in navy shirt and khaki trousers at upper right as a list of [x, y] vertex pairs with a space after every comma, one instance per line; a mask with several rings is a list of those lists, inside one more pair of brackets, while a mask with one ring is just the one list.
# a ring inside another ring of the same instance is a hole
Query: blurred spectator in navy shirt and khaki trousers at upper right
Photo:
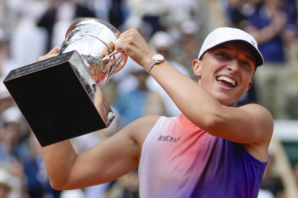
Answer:
[[284, 46], [296, 37], [296, 17], [295, 1], [264, 0], [260, 8], [243, 22], [243, 30], [256, 39], [266, 63], [254, 77], [254, 82], [259, 85], [257, 96], [275, 119], [287, 118]]

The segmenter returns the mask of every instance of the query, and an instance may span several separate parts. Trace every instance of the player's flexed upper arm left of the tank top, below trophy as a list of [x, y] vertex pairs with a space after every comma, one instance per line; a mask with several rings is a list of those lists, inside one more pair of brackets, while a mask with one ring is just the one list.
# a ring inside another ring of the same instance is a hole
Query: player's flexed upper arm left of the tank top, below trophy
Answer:
[[126, 126], [107, 140], [77, 155], [69, 181], [70, 189], [115, 180], [138, 165], [139, 144]]

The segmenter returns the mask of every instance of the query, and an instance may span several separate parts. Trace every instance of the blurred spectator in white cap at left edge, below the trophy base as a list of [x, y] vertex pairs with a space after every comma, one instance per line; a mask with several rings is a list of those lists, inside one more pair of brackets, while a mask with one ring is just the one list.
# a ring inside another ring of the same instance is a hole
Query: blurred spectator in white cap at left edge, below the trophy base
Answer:
[[4, 110], [0, 118], [0, 162], [10, 172], [13, 184], [9, 198], [22, 197], [23, 189], [27, 189], [23, 163], [30, 153], [26, 143], [28, 126], [15, 106]]

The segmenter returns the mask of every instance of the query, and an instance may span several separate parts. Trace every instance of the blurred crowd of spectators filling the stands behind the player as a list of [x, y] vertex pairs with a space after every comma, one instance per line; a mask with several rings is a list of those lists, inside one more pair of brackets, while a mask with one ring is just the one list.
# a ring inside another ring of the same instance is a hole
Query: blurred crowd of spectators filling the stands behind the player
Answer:
[[[298, 119], [298, 40], [295, 0], [2, 0], [0, 76], [32, 64], [60, 46], [68, 27], [80, 18], [100, 18], [120, 32], [137, 28], [150, 46], [193, 78], [192, 61], [203, 39], [219, 26], [252, 34], [265, 64], [238, 106], [262, 104], [274, 119]], [[145, 70], [131, 59], [101, 90], [116, 118], [107, 129], [72, 139], [77, 152], [110, 137], [147, 114], [176, 116], [179, 109]], [[287, 197], [274, 170], [274, 153], [260, 191]], [[293, 166], [298, 179], [298, 165]], [[294, 171], [293, 171], [294, 174]], [[298, 195], [297, 195], [298, 196]], [[138, 197], [137, 169], [110, 183], [72, 191], [51, 188], [41, 146], [4, 84], [0, 84], [0, 198]]]

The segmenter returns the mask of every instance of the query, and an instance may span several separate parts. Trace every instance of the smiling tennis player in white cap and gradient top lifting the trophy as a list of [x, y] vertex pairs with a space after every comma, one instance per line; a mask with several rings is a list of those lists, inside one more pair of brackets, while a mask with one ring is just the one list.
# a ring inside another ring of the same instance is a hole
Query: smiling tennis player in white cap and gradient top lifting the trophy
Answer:
[[139, 118], [78, 154], [69, 140], [43, 147], [52, 187], [106, 183], [139, 166], [142, 198], [257, 197], [273, 118], [258, 104], [236, 107], [264, 62], [256, 40], [235, 28], [212, 31], [192, 64], [198, 82], [156, 54], [134, 28], [121, 34], [115, 48], [144, 67], [182, 114]]

